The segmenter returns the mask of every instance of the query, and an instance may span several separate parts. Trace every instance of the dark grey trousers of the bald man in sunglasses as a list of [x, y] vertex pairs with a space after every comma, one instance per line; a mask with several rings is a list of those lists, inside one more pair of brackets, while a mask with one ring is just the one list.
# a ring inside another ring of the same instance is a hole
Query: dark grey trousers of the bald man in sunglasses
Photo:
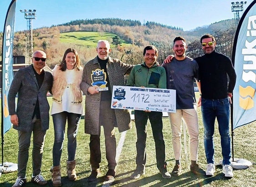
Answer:
[[18, 177], [26, 177], [26, 167], [29, 157], [29, 147], [31, 134], [33, 132], [33, 149], [32, 149], [32, 168], [33, 176], [41, 173], [43, 147], [46, 131], [41, 131], [41, 120], [37, 119], [33, 123], [33, 131], [18, 131], [19, 135], [19, 152], [18, 152]]

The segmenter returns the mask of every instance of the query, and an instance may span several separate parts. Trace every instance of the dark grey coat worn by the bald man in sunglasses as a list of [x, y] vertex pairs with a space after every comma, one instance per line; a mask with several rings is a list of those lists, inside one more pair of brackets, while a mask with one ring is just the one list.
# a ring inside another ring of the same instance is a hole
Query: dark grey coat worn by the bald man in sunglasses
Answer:
[[[50, 106], [46, 94], [47, 91], [51, 92], [51, 87], [52, 75], [45, 71], [44, 81], [39, 89], [32, 65], [20, 69], [15, 74], [8, 94], [9, 114], [17, 114], [19, 118], [19, 126], [13, 126], [14, 129], [27, 132], [32, 131], [32, 115], [37, 98], [41, 115], [41, 130], [45, 131], [49, 128]], [[16, 94], [18, 94], [17, 108], [15, 108]]]

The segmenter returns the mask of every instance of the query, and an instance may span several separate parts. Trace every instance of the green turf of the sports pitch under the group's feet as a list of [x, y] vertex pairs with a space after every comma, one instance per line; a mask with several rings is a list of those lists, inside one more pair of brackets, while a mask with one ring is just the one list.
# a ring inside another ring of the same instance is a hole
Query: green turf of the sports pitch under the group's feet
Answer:
[[[198, 93], [197, 93], [198, 94]], [[51, 97], [48, 97], [51, 105]], [[205, 170], [206, 160], [203, 145], [203, 125], [201, 119], [200, 108], [198, 108], [199, 128], [200, 128], [200, 144], [198, 153], [198, 163]], [[171, 143], [171, 128], [168, 118], [163, 118], [164, 122], [164, 139], [166, 145], [166, 161], [168, 162], [168, 171], [171, 172], [174, 167], [174, 154]], [[234, 136], [234, 149], [236, 158], [244, 158], [251, 162], [256, 162], [256, 123], [245, 125], [235, 130]], [[121, 134], [116, 131], [117, 143], [119, 142]], [[187, 136], [187, 135], [186, 135]], [[4, 145], [4, 162], [17, 163], [17, 132], [10, 129], [5, 133]], [[183, 136], [182, 136], [183, 140]], [[187, 136], [188, 140], [188, 136]], [[54, 141], [54, 132], [52, 119], [50, 118], [50, 129], [46, 133], [46, 141], [43, 154], [42, 174], [48, 181], [48, 185], [52, 186], [50, 168], [52, 165], [52, 146]], [[63, 187], [100, 187], [100, 186], [114, 186], [114, 187], [256, 187], [256, 165], [246, 170], [234, 170], [234, 177], [227, 179], [222, 173], [222, 167], [217, 166], [214, 177], [196, 176], [186, 168], [184, 150], [182, 152], [182, 174], [179, 177], [172, 177], [171, 179], [163, 179], [159, 174], [156, 167], [154, 139], [151, 131], [150, 124], [148, 123], [148, 137], [147, 137], [147, 163], [146, 174], [139, 178], [132, 180], [129, 176], [133, 173], [136, 157], [136, 129], [133, 122], [133, 128], [128, 130], [125, 136], [123, 149], [120, 154], [117, 165], [117, 176], [112, 183], [105, 183], [103, 177], [107, 172], [107, 161], [105, 158], [105, 145], [104, 137], [101, 138], [102, 147], [102, 162], [101, 172], [102, 175], [95, 182], [87, 182], [87, 177], [90, 175], [89, 163], [89, 135], [84, 133], [84, 119], [81, 120], [79, 126], [79, 133], [77, 135], [77, 181], [70, 182], [66, 174], [66, 160], [67, 160], [67, 139], [63, 145], [63, 152], [61, 156], [62, 167], [62, 186]], [[215, 162], [221, 160], [220, 136], [218, 128], [215, 129]], [[27, 184], [26, 187], [35, 186], [30, 182], [31, 180], [31, 149], [30, 157], [27, 165]], [[1, 187], [11, 187], [15, 182], [17, 172], [2, 174], [0, 177]]]

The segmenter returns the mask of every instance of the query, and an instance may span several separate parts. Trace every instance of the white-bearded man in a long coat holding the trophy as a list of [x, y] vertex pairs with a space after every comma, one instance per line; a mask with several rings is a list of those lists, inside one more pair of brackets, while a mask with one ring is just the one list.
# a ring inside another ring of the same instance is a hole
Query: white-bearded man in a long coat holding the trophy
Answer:
[[[118, 127], [119, 132], [131, 128], [129, 111], [112, 109], [111, 96], [113, 85], [125, 85], [124, 75], [130, 73], [133, 65], [125, 64], [119, 59], [108, 56], [111, 49], [109, 42], [106, 40], [99, 40], [96, 50], [98, 55], [84, 66], [82, 83], [80, 84], [82, 92], [86, 95], [85, 133], [91, 135], [90, 163], [92, 173], [88, 177], [89, 182], [96, 180], [100, 173], [100, 126], [102, 125], [104, 129], [106, 158], [108, 160], [108, 172], [104, 177], [105, 180], [113, 179], [116, 174], [116, 138], [114, 127]], [[103, 76], [106, 73], [105, 81], [107, 81], [106, 88], [108, 90], [98, 91], [97, 86], [92, 86], [92, 76], [96, 72], [103, 73]]]

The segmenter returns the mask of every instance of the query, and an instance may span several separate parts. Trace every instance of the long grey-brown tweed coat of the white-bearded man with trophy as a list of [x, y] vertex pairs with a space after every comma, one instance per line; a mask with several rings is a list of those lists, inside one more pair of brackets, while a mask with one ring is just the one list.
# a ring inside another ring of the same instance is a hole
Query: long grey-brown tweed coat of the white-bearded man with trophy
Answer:
[[[101, 92], [98, 94], [89, 94], [87, 89], [92, 86], [91, 74], [92, 70], [100, 68], [97, 56], [88, 61], [83, 68], [83, 77], [80, 88], [86, 95], [85, 98], [85, 133], [99, 135], [99, 114], [100, 114], [100, 101]], [[109, 57], [107, 64], [108, 78], [110, 90], [112, 93], [113, 85], [124, 86], [124, 75], [129, 74], [133, 68], [131, 64], [125, 64], [119, 59]], [[111, 106], [109, 106], [110, 108]], [[126, 131], [132, 128], [130, 113], [128, 110], [115, 109], [116, 124], [119, 132]]]

